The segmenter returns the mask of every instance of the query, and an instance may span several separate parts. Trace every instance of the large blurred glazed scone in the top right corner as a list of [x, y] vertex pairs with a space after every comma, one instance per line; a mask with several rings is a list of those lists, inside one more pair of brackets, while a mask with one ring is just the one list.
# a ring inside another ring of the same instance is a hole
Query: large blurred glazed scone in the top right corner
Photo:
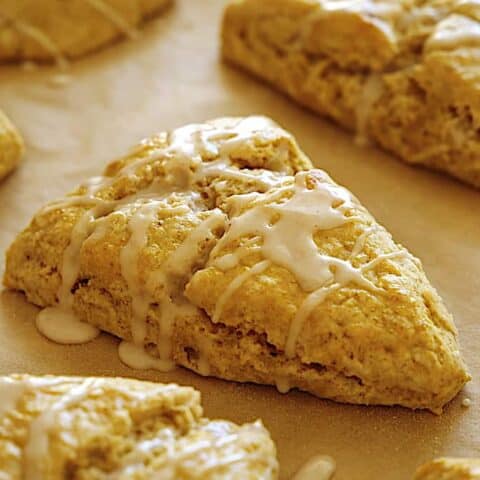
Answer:
[[361, 142], [480, 187], [479, 21], [468, 0], [235, 0], [222, 52]]

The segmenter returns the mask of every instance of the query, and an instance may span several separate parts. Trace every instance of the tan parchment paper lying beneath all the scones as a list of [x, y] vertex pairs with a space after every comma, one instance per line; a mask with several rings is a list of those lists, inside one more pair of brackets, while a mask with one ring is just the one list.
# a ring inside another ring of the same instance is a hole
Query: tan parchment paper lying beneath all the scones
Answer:
[[[136, 376], [190, 384], [206, 413], [236, 422], [262, 418], [278, 446], [281, 478], [310, 456], [333, 456], [337, 480], [405, 480], [438, 455], [480, 456], [480, 192], [408, 167], [218, 61], [224, 0], [178, 0], [143, 35], [76, 62], [54, 86], [55, 69], [0, 68], [0, 107], [22, 130], [28, 153], [0, 185], [0, 250], [46, 201], [62, 196], [142, 137], [223, 115], [262, 113], [293, 132], [315, 164], [350, 188], [424, 263], [455, 315], [474, 380], [442, 416], [402, 408], [355, 407], [308, 394], [123, 366], [117, 340], [82, 346], [41, 337], [37, 309], [0, 296], [0, 373]], [[3, 269], [3, 265], [2, 265]], [[469, 409], [463, 398], [472, 399]]]

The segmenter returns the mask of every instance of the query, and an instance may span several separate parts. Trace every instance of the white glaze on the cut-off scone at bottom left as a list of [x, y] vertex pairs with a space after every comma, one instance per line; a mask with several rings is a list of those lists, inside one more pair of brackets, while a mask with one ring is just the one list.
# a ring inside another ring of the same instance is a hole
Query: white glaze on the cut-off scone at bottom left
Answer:
[[[128, 348], [128, 347], [127, 347]], [[151, 358], [145, 358], [150, 362]], [[81, 416], [88, 414], [82, 404], [86, 398], [100, 397], [103, 387], [107, 385], [104, 379], [86, 378], [76, 379], [68, 377], [25, 377], [0, 379], [2, 400], [7, 399], [9, 410], [14, 410], [20, 398], [27, 392], [39, 393], [44, 388], [50, 401], [28, 427], [28, 436], [23, 447], [23, 476], [28, 480], [43, 480], [48, 474], [48, 459], [50, 451], [50, 433], [58, 432], [71, 447], [77, 444], [76, 425]], [[52, 387], [64, 386], [59, 390]], [[112, 385], [113, 386], [113, 385]], [[137, 390], [122, 384], [113, 386], [114, 394], [121, 394], [131, 401], [142, 402], [158, 393], [167, 394], [169, 390], [178, 388], [176, 385], [162, 386], [161, 390]], [[119, 397], [121, 401], [121, 397]], [[81, 412], [79, 410], [82, 410]], [[2, 411], [3, 413], [3, 411]], [[80, 430], [81, 432], [81, 430]], [[134, 475], [136, 472], [145, 472], [148, 459], [156, 455], [156, 451], [166, 454], [165, 463], [160, 470], [152, 473], [157, 478], [168, 470], [171, 473], [167, 478], [184, 469], [192, 468], [202, 475], [213, 472], [222, 472], [228, 466], [229, 471], [241, 474], [245, 471], [245, 464], [261, 462], [265, 471], [275, 471], [277, 462], [262, 449], [255, 448], [263, 440], [268, 440], [267, 433], [257, 421], [252, 424], [237, 426], [233, 423], [216, 420], [201, 420], [192, 425], [188, 432], [179, 435], [173, 428], [162, 427], [153, 438], [144, 438], [133, 444], [133, 449], [119, 459], [119, 466], [114, 472], [107, 475], [109, 480], [125, 478], [125, 475]], [[271, 473], [270, 472], [270, 473]], [[173, 476], [173, 477], [172, 477]]]

